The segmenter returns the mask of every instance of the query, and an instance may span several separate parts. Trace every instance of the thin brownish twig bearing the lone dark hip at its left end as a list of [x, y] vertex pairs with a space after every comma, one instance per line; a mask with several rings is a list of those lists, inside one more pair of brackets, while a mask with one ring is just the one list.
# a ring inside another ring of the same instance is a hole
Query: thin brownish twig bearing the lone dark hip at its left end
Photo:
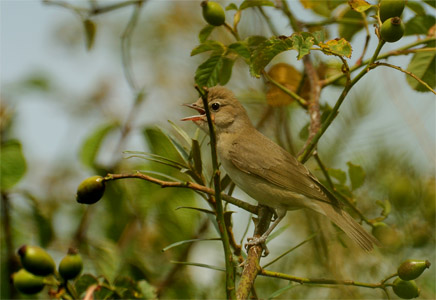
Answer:
[[[143, 179], [143, 180], [149, 181], [151, 183], [160, 185], [162, 188], [166, 188], [166, 187], [187, 188], [187, 189], [191, 189], [194, 191], [203, 192], [203, 193], [206, 193], [209, 195], [215, 195], [215, 190], [208, 188], [206, 186], [194, 183], [194, 182], [190, 182], [190, 181], [187, 181], [187, 182], [164, 181], [161, 179], [151, 177], [151, 176], [146, 175], [146, 174], [142, 174], [140, 172], [127, 173], [127, 174], [107, 174], [106, 177], [104, 177], [104, 181], [126, 179], [126, 178]], [[247, 202], [244, 202], [242, 200], [228, 196], [224, 193], [222, 193], [221, 196], [225, 201], [227, 201], [233, 205], [236, 205], [236, 206], [238, 206], [238, 207], [240, 207], [248, 212], [251, 212], [253, 214], [256, 214], [256, 215], [258, 214], [258, 208], [255, 205], [251, 205]]]

